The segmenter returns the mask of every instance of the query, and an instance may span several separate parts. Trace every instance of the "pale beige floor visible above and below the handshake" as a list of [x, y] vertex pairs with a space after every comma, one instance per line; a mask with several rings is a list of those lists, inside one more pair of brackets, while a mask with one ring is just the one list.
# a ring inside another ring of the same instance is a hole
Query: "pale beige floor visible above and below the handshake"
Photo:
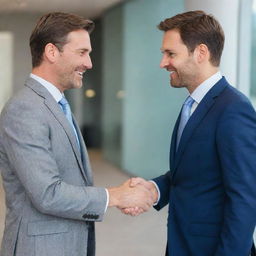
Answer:
[[[129, 178], [118, 168], [104, 161], [98, 151], [90, 151], [89, 154], [96, 186], [117, 186]], [[5, 215], [2, 186], [0, 205], [1, 239]], [[126, 216], [116, 208], [108, 209], [104, 221], [96, 223], [96, 256], [164, 255], [166, 218], [166, 208], [160, 212], [151, 209], [138, 217]]]

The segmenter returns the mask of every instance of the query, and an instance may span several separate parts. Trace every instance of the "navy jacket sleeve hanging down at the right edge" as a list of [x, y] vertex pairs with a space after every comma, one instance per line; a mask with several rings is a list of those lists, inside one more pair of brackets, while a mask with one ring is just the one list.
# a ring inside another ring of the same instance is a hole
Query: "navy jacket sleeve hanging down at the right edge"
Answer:
[[256, 224], [256, 115], [247, 101], [231, 103], [216, 134], [225, 189], [215, 256], [249, 255]]

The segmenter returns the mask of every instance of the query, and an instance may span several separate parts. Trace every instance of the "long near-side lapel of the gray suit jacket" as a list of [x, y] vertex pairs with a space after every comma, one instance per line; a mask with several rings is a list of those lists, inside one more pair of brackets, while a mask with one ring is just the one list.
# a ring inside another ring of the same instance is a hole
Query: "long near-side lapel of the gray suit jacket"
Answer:
[[[83, 164], [81, 159], [81, 152], [79, 150], [79, 146], [77, 144], [76, 136], [74, 134], [73, 128], [71, 127], [69, 121], [65, 117], [63, 111], [61, 110], [58, 103], [55, 101], [55, 99], [52, 97], [52, 95], [45, 89], [39, 82], [36, 80], [29, 78], [26, 81], [26, 86], [31, 88], [35, 93], [39, 94], [41, 97], [43, 97], [44, 103], [46, 107], [50, 110], [50, 112], [53, 114], [55, 119], [60, 123], [60, 125], [63, 127], [69, 142], [71, 144], [71, 147], [73, 149], [73, 152], [75, 154], [76, 160], [79, 164], [81, 173], [86, 180], [87, 183], [89, 183], [88, 178], [85, 175], [85, 172], [83, 170]], [[77, 128], [77, 127], [76, 127]], [[78, 129], [79, 130], [79, 129]]]

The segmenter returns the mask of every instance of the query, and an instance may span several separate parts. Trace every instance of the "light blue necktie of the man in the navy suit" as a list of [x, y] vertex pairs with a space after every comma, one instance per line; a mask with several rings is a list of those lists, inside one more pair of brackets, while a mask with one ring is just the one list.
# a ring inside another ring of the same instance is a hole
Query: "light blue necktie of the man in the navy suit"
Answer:
[[193, 98], [190, 96], [187, 97], [185, 102], [183, 103], [182, 111], [181, 111], [181, 116], [180, 116], [180, 124], [179, 124], [179, 129], [178, 129], [178, 134], [177, 134], [177, 144], [176, 144], [176, 149], [178, 149], [179, 143], [180, 143], [180, 138], [182, 135], [182, 132], [188, 122], [188, 119], [190, 118], [191, 114], [191, 107], [195, 101]]

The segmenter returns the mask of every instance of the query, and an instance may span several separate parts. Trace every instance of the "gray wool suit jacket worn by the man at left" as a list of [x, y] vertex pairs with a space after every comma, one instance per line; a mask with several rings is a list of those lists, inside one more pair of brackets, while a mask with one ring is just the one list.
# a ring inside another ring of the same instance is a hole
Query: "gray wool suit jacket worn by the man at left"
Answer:
[[[75, 123], [77, 127], [77, 124]], [[93, 256], [94, 221], [106, 205], [87, 150], [52, 95], [29, 78], [0, 116], [6, 193], [1, 256]]]

